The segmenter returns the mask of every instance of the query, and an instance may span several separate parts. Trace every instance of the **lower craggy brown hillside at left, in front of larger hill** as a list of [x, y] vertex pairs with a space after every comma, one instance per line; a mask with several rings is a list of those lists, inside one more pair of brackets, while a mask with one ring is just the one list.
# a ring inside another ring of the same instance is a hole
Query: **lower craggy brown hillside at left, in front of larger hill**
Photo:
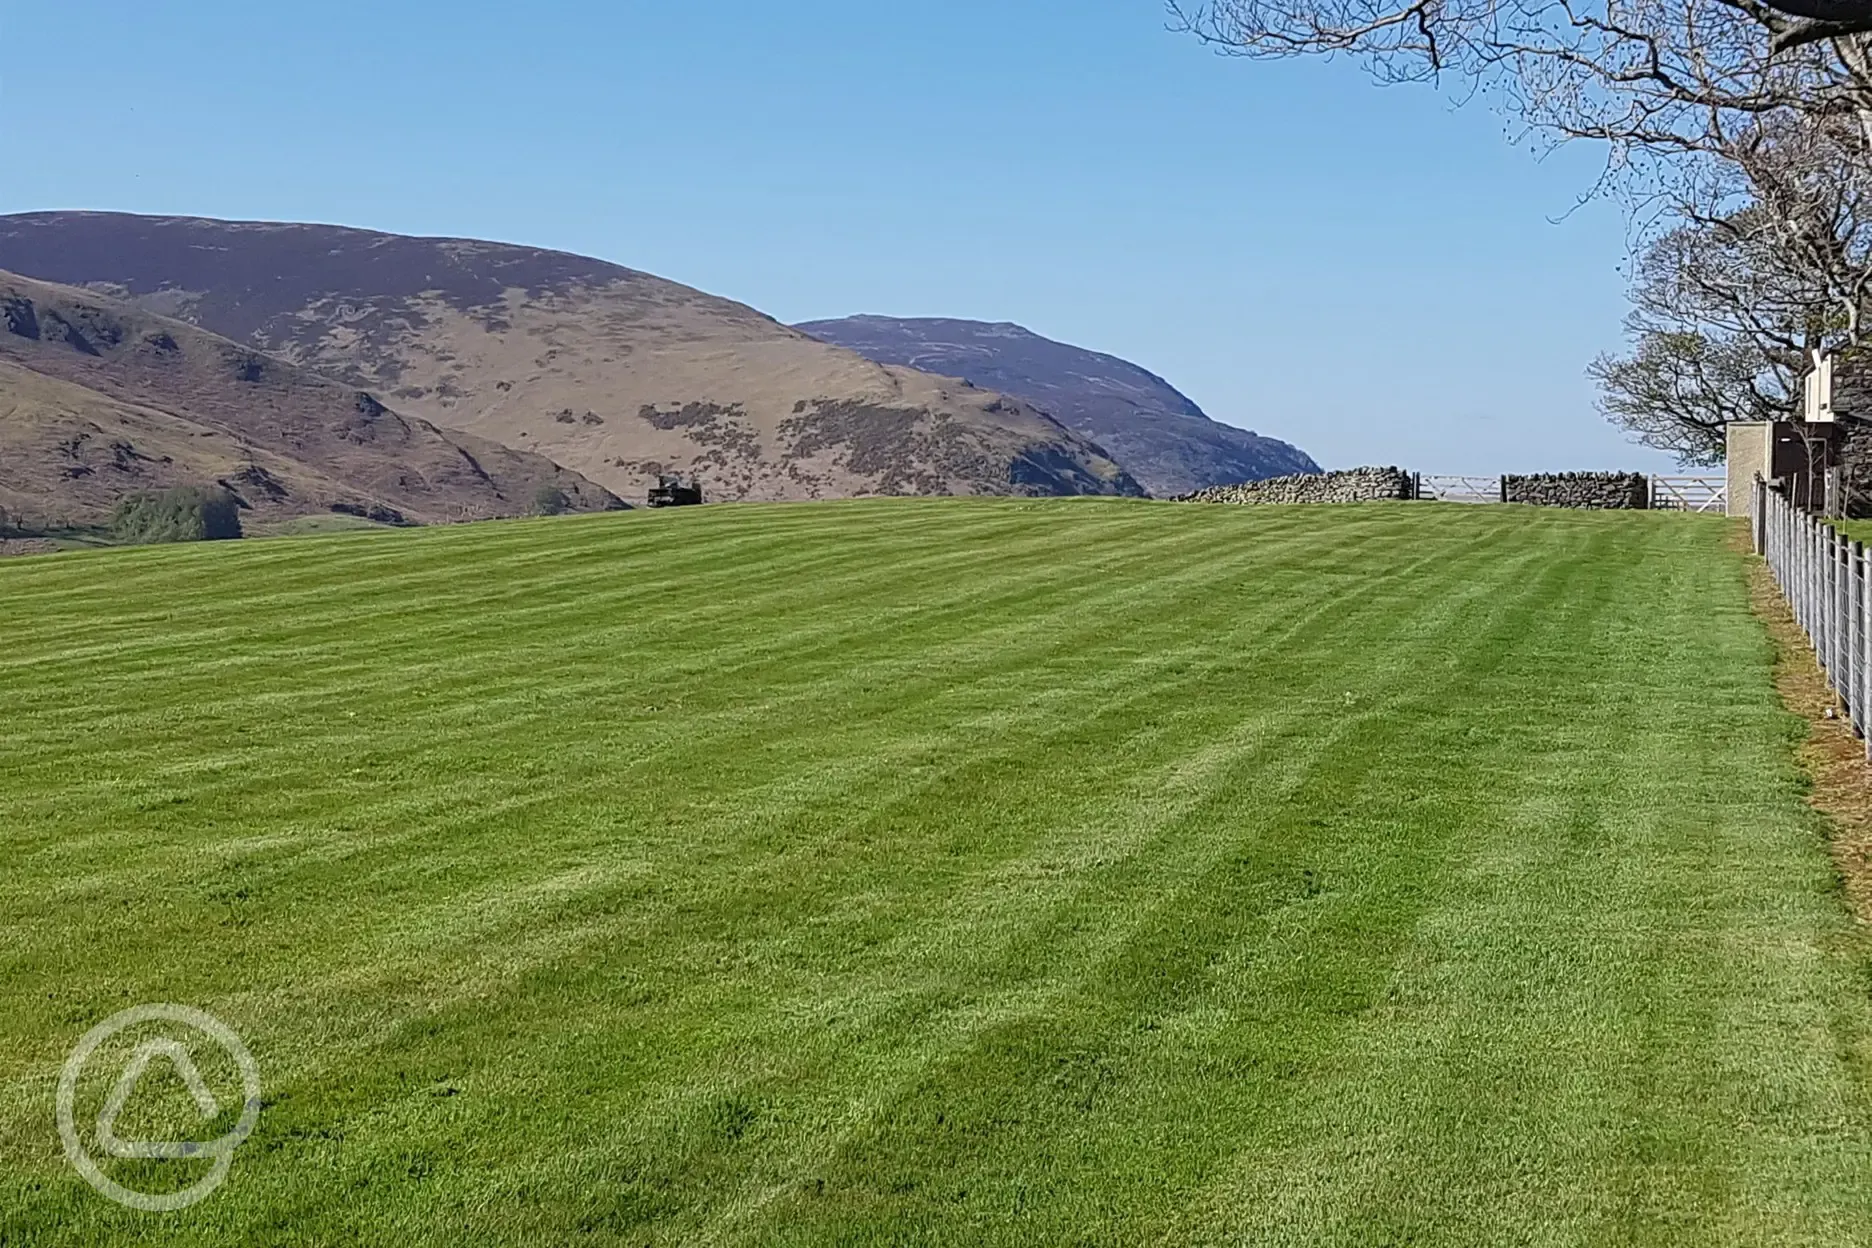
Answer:
[[578, 473], [446, 434], [378, 399], [97, 292], [0, 271], [0, 505], [95, 524], [131, 490], [219, 481], [262, 524], [519, 516]]

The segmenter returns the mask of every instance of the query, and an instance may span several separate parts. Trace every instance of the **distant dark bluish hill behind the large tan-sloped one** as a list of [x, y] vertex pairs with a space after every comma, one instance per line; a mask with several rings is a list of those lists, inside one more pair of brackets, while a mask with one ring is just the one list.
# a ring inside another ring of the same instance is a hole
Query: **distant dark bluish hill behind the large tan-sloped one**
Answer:
[[1209, 419], [1155, 372], [1020, 326], [848, 316], [796, 327], [867, 359], [968, 378], [1026, 399], [1110, 451], [1159, 498], [1320, 472], [1299, 447]]

